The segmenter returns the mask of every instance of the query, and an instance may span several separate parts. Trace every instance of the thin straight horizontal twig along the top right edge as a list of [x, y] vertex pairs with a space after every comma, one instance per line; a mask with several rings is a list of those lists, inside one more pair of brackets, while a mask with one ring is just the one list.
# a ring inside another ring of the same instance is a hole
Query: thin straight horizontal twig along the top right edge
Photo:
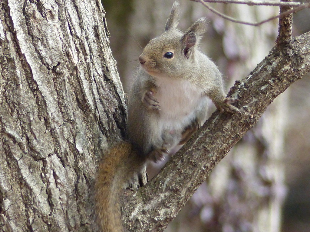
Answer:
[[[200, 2], [200, 0], [190, 0], [193, 2]], [[234, 3], [234, 4], [246, 4], [249, 6], [300, 6], [301, 2], [276, 2], [276, 1], [259, 1], [259, 0], [203, 0], [204, 2], [214, 3]]]

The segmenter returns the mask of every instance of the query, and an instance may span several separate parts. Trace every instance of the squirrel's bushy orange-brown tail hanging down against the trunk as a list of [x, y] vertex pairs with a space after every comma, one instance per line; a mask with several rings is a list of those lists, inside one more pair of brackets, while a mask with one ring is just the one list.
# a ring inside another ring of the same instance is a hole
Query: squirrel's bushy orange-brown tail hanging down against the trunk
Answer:
[[117, 144], [104, 155], [98, 167], [94, 196], [94, 230], [96, 232], [124, 231], [119, 195], [124, 184], [141, 170], [145, 161], [130, 143]]

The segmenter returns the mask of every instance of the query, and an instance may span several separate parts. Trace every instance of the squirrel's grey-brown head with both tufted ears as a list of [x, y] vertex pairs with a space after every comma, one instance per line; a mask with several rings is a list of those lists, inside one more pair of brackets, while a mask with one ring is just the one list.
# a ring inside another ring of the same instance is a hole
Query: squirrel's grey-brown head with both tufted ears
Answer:
[[152, 76], [179, 77], [195, 62], [195, 50], [206, 19], [198, 19], [185, 33], [177, 28], [178, 7], [175, 2], [165, 26], [165, 32], [152, 39], [139, 56], [141, 66]]

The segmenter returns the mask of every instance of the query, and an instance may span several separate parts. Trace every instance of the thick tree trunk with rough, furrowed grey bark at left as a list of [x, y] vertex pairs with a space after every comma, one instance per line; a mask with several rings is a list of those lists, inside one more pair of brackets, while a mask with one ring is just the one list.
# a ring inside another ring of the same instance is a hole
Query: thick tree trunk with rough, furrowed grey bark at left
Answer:
[[126, 105], [101, 2], [0, 5], [0, 231], [87, 231]]

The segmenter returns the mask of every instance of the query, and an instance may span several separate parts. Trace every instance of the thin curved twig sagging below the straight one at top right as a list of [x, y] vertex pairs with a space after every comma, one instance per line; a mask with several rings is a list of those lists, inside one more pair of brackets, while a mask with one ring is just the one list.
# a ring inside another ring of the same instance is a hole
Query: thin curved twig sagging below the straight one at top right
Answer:
[[211, 12], [213, 12], [216, 15], [219, 15], [220, 17], [222, 17], [223, 19], [227, 19], [227, 20], [229, 20], [231, 22], [234, 22], [234, 23], [245, 24], [245, 25], [250, 25], [250, 26], [255, 26], [255, 27], [260, 26], [261, 24], [267, 23], [267, 22], [271, 21], [272, 19], [277, 19], [277, 18], [283, 17], [285, 15], [288, 15], [288, 14], [291, 14], [291, 13], [294, 13], [294, 12], [297, 12], [297, 11], [300, 11], [302, 9], [310, 7], [310, 3], [304, 3], [302, 5], [299, 5], [299, 6], [295, 7], [292, 10], [285, 11], [285, 12], [279, 14], [279, 15], [272, 16], [272, 17], [270, 17], [268, 19], [265, 19], [265, 20], [263, 20], [263, 21], [261, 21], [259, 23], [249, 23], [249, 22], [238, 20], [238, 19], [234, 19], [232, 17], [229, 17], [228, 15], [224, 15], [223, 13], [215, 10], [214, 8], [212, 8], [211, 6], [206, 4], [206, 2], [204, 2], [203, 0], [197, 0], [197, 1], [200, 2], [202, 5], [206, 6], [206, 8], [208, 8]]

